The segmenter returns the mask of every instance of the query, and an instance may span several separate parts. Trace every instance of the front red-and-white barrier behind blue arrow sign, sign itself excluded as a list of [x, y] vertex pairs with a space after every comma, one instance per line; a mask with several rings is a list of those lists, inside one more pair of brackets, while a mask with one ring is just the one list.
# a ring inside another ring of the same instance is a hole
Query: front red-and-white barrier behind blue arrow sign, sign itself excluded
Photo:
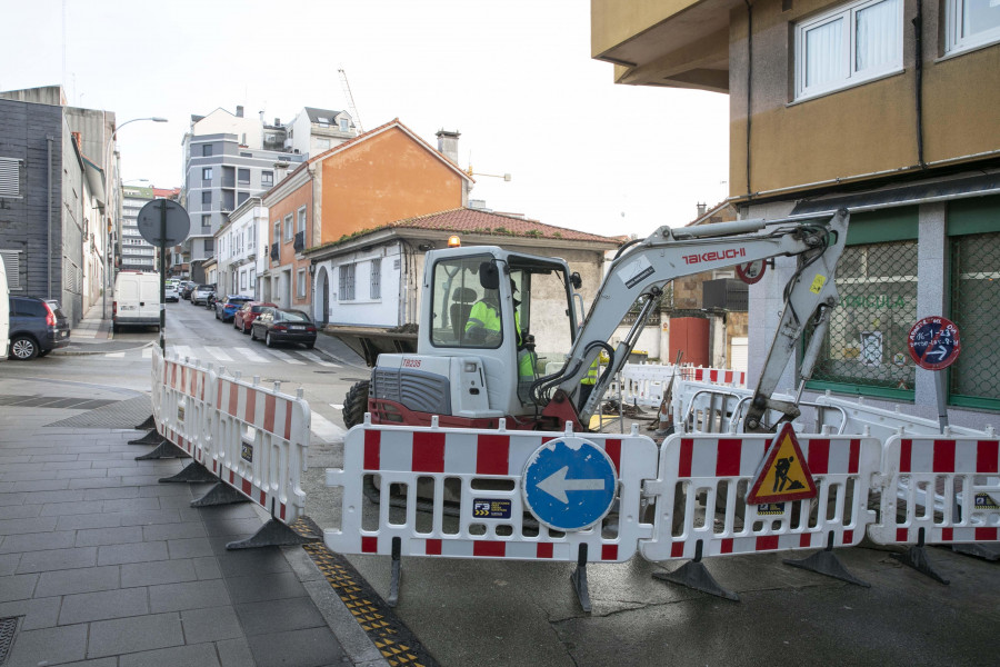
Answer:
[[[589, 528], [559, 531], [528, 520], [522, 475], [529, 458], [560, 437], [508, 431], [502, 420], [499, 430], [473, 430], [373, 426], [366, 417], [347, 435], [343, 468], [327, 470], [327, 486], [343, 495], [340, 529], [326, 530], [326, 544], [341, 554], [391, 555], [399, 538], [404, 556], [561, 561], [577, 560], [587, 545], [588, 561], [628, 560], [639, 538], [652, 536], [652, 525], [639, 515], [642, 478], [657, 465], [656, 444], [636, 430], [581, 434], [617, 469], [618, 510]], [[380, 487], [378, 514], [368, 521], [361, 510], [366, 476], [377, 477]], [[390, 507], [390, 491], [401, 485], [406, 507]], [[446, 489], [453, 492], [448, 511]], [[422, 516], [430, 512], [427, 520], [418, 520], [418, 491], [428, 498], [421, 507]]]

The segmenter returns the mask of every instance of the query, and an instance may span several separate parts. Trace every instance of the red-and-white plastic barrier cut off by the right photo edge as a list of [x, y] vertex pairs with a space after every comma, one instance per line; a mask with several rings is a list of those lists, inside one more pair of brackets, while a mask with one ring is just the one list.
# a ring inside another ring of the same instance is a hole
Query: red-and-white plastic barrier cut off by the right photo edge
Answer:
[[893, 436], [882, 467], [881, 522], [868, 527], [873, 541], [1000, 541], [1000, 440]]

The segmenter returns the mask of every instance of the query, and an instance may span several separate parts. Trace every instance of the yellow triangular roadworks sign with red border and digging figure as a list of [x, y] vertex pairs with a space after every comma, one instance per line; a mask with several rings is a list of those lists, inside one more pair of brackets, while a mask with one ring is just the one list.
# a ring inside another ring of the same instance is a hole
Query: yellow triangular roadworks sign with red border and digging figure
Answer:
[[763, 462], [757, 470], [747, 505], [767, 505], [787, 500], [816, 498], [816, 482], [802, 456], [791, 424], [786, 422], [771, 440]]

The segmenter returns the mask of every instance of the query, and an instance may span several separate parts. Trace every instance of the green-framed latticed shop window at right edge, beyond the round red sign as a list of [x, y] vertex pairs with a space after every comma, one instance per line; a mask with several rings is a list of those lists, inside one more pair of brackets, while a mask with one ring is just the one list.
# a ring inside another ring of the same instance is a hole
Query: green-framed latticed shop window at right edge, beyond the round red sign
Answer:
[[998, 401], [1000, 355], [1000, 233], [951, 238], [951, 320], [961, 332], [962, 350], [951, 366], [951, 397]]

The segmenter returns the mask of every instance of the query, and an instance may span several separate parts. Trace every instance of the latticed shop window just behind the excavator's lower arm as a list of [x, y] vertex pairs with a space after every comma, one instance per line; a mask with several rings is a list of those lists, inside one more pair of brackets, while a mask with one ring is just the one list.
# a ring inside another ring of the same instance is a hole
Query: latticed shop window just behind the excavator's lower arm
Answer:
[[840, 303], [813, 381], [912, 391], [907, 335], [917, 321], [917, 241], [844, 248], [837, 266]]

